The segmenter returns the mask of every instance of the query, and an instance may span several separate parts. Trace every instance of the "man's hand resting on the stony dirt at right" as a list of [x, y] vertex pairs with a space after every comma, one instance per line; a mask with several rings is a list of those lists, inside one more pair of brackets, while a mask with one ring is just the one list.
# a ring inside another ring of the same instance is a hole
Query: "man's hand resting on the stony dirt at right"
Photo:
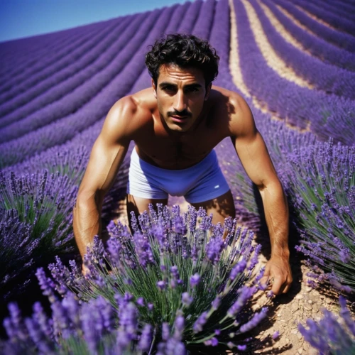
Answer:
[[293, 281], [290, 261], [282, 256], [271, 256], [266, 263], [265, 272], [260, 283], [262, 285], [271, 282], [271, 291], [274, 295], [287, 293]]

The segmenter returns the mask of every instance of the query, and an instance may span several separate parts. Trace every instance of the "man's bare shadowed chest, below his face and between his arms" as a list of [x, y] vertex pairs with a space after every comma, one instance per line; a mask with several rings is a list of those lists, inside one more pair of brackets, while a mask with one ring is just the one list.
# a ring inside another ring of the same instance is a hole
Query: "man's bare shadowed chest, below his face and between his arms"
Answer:
[[153, 89], [133, 94], [132, 99], [139, 116], [132, 138], [139, 157], [152, 165], [171, 170], [190, 168], [229, 136], [229, 116], [235, 109], [229, 101], [229, 90], [212, 87], [199, 123], [191, 131], [178, 134], [165, 129]]

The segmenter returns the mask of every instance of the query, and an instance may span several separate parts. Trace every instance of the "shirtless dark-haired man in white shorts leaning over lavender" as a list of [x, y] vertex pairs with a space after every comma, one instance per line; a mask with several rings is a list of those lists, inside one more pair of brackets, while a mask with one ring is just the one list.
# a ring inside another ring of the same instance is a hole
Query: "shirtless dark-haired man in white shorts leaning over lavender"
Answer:
[[[258, 186], [271, 238], [263, 283], [273, 278], [275, 295], [292, 283], [288, 249], [288, 204], [248, 104], [239, 94], [212, 87], [219, 57], [205, 40], [167, 35], [146, 55], [152, 87], [123, 97], [109, 110], [92, 148], [73, 210], [75, 240], [82, 256], [101, 234], [101, 210], [133, 140], [127, 212], [167, 204], [184, 196], [213, 214], [213, 223], [235, 217], [231, 190], [214, 147], [231, 137], [249, 178]], [[236, 156], [235, 156], [236, 158]], [[130, 215], [130, 214], [129, 214]]]

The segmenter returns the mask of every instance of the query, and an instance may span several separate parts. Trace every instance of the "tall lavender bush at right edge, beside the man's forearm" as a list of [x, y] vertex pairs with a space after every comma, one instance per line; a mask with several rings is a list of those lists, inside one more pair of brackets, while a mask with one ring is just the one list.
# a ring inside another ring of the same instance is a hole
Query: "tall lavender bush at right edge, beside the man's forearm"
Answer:
[[310, 275], [354, 292], [355, 146], [330, 140], [299, 148], [282, 175], [302, 237], [296, 249], [310, 257]]

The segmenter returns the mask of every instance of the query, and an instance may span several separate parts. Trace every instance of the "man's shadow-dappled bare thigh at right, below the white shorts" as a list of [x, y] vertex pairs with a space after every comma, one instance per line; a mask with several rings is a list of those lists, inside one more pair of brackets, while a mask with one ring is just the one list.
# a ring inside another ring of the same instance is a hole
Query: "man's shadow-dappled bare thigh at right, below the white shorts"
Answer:
[[224, 219], [226, 217], [236, 217], [236, 209], [234, 207], [234, 199], [233, 195], [231, 195], [231, 190], [212, 200], [191, 203], [191, 205], [196, 209], [199, 209], [200, 207], [206, 209], [207, 214], [212, 213], [213, 224], [217, 224], [218, 222], [224, 224]]

